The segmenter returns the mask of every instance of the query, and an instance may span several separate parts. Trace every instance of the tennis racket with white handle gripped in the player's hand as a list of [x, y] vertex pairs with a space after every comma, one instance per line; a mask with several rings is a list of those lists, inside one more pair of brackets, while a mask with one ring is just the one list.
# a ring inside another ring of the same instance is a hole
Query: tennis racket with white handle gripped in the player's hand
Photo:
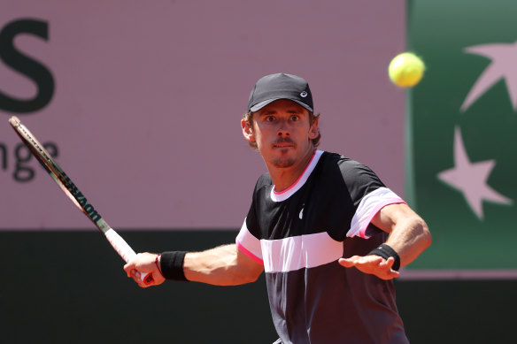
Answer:
[[[35, 136], [29, 132], [27, 126], [24, 126], [19, 121], [19, 118], [16, 116], [12, 116], [9, 118], [9, 123], [12, 128], [19, 135], [19, 138], [28, 149], [32, 152], [32, 154], [36, 157], [38, 162], [42, 164], [43, 168], [49, 172], [50, 177], [58, 184], [59, 187], [65, 192], [65, 194], [70, 198], [79, 208], [84, 215], [87, 216], [94, 223], [94, 225], [104, 233], [106, 239], [110, 241], [112, 247], [115, 248], [115, 251], [126, 261], [126, 263], [133, 259], [136, 254], [133, 248], [131, 248], [122, 237], [116, 233], [112, 227], [110, 227], [104, 218], [102, 218], [101, 214], [99, 214], [94, 206], [89, 203], [87, 198], [81, 193], [78, 187], [73, 184], [73, 181], [66, 175], [66, 173], [59, 167], [58, 163], [50, 156], [46, 149], [43, 148], [42, 144], [36, 140]], [[149, 285], [152, 281], [152, 274], [147, 273], [143, 274], [137, 272], [140, 276], [139, 278], [143, 281], [144, 284]]]

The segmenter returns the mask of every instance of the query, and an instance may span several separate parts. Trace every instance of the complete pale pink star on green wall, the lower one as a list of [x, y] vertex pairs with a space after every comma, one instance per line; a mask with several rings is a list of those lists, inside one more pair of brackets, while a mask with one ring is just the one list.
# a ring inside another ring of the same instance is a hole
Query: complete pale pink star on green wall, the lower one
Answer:
[[438, 173], [438, 179], [463, 193], [470, 209], [478, 218], [482, 219], [482, 201], [501, 204], [513, 203], [511, 199], [498, 194], [487, 184], [495, 164], [495, 160], [471, 163], [467, 157], [459, 127], [456, 127], [454, 131], [454, 167]]

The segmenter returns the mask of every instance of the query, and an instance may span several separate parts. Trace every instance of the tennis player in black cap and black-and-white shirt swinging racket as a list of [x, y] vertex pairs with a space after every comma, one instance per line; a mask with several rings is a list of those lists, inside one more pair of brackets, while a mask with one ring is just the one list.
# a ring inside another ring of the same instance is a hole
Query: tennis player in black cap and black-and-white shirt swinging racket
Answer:
[[261, 78], [247, 110], [243, 135], [268, 173], [235, 243], [139, 254], [127, 276], [237, 285], [265, 271], [275, 343], [408, 343], [392, 279], [430, 245], [426, 223], [366, 165], [316, 148], [320, 118], [304, 79]]

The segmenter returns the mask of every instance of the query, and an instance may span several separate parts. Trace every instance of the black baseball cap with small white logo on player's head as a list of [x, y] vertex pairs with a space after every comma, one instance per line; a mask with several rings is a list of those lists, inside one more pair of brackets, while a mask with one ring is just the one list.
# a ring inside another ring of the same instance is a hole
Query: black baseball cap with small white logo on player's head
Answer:
[[313, 111], [313, 95], [309, 84], [299, 76], [285, 73], [266, 75], [257, 81], [251, 90], [248, 112], [259, 111], [268, 103], [289, 99]]

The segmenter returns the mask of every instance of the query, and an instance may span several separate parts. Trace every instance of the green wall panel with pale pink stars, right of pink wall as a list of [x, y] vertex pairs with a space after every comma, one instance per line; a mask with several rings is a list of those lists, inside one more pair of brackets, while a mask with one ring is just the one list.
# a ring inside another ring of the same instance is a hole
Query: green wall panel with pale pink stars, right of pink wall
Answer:
[[410, 269], [516, 271], [517, 2], [406, 4], [426, 73], [406, 93], [405, 200], [433, 234]]

